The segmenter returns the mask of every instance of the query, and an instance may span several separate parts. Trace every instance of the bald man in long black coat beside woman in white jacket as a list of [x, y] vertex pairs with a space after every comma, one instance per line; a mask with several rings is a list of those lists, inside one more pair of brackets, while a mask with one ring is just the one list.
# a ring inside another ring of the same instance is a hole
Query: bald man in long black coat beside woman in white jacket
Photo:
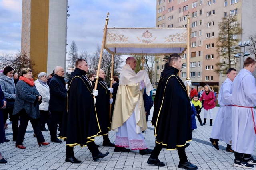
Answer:
[[58, 123], [61, 128], [62, 114], [65, 108], [65, 100], [67, 96], [67, 91], [65, 87], [64, 80], [64, 68], [61, 66], [55, 67], [55, 74], [50, 80], [50, 101], [49, 101], [49, 111], [51, 111], [51, 125], [50, 134], [51, 142], [62, 142], [57, 138], [57, 127]]

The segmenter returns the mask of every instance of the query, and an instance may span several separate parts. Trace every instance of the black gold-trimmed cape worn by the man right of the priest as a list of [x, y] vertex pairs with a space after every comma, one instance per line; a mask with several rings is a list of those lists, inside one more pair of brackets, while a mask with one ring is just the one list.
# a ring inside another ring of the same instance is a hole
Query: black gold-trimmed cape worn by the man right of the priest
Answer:
[[163, 70], [156, 89], [152, 125], [156, 143], [168, 150], [184, 146], [192, 140], [191, 105], [179, 70], [168, 66]]

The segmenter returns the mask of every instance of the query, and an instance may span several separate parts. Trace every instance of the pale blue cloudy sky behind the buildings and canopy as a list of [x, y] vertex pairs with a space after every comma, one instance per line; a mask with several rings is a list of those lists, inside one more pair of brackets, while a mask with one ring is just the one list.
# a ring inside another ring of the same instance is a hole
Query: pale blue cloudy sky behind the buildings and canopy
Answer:
[[[101, 47], [103, 29], [155, 27], [156, 0], [68, 0], [67, 52], [72, 41], [80, 51]], [[0, 0], [0, 55], [21, 47], [22, 0]]]

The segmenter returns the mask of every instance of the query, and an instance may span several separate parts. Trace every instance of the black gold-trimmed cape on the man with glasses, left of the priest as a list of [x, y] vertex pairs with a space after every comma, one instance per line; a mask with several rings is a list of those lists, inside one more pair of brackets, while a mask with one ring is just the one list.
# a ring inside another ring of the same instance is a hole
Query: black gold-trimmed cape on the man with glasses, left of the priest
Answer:
[[68, 82], [66, 108], [59, 137], [69, 146], [86, 146], [93, 141], [100, 126], [98, 123], [92, 88], [85, 78], [86, 72], [76, 68]]

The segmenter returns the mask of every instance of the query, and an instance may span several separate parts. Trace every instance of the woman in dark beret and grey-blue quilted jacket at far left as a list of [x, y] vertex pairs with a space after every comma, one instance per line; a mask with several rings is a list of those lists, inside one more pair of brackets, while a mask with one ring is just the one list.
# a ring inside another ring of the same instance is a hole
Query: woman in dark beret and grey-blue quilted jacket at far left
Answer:
[[[13, 80], [14, 69], [10, 66], [4, 68], [3, 74], [0, 74], [0, 85], [6, 98], [6, 108], [3, 109], [4, 123], [6, 123], [8, 114], [10, 115], [10, 121], [12, 121], [12, 140], [16, 141], [18, 137], [18, 116], [12, 115], [14, 101], [15, 101], [15, 84]], [[6, 139], [6, 141], [10, 141]]]

